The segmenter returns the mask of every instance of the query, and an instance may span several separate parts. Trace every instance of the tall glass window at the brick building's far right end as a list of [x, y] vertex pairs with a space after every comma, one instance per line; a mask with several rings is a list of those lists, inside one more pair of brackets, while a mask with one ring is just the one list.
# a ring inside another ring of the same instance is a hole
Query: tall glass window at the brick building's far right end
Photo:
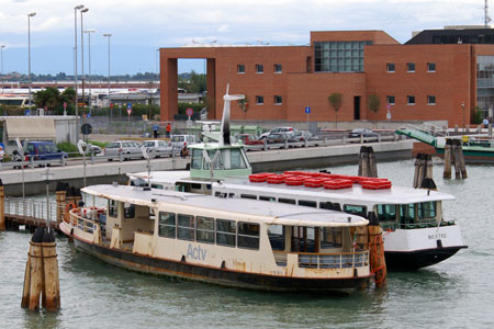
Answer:
[[476, 56], [476, 105], [483, 116], [494, 112], [494, 56]]

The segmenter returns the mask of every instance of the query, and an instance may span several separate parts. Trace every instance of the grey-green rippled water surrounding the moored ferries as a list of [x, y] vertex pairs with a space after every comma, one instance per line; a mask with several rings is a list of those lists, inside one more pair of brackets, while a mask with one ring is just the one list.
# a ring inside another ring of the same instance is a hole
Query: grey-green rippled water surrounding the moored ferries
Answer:
[[[413, 160], [380, 163], [379, 175], [412, 185]], [[468, 167], [465, 181], [444, 181], [457, 196], [445, 208], [469, 249], [416, 272], [389, 273], [388, 287], [349, 297], [274, 294], [176, 282], [113, 268], [78, 253], [60, 237], [61, 309], [20, 307], [29, 239], [0, 232], [0, 328], [493, 328], [494, 167]], [[329, 169], [356, 174], [355, 166]]]

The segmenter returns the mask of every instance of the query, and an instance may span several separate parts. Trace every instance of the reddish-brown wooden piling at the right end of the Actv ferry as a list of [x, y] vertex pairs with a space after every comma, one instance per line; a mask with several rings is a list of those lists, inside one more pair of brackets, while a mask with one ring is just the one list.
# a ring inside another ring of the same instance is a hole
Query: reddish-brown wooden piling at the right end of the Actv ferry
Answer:
[[381, 288], [386, 285], [386, 263], [384, 260], [384, 242], [382, 240], [381, 226], [377, 218], [369, 222], [369, 261], [371, 271], [374, 274], [375, 287]]

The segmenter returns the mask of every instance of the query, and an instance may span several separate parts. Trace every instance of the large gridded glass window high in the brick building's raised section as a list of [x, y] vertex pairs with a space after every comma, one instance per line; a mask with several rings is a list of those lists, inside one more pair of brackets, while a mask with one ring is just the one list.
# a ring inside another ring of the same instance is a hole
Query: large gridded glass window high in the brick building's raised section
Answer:
[[363, 46], [361, 42], [317, 42], [314, 43], [316, 72], [361, 72], [363, 71]]

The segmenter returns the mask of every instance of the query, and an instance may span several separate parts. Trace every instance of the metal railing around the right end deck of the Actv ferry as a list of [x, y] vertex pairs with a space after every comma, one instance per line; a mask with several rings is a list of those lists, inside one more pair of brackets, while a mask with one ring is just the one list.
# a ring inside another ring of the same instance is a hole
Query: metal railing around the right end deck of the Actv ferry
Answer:
[[[279, 265], [287, 265], [283, 257], [292, 252], [274, 251], [274, 258]], [[349, 269], [369, 265], [369, 251], [338, 252], [338, 253], [312, 253], [299, 252], [299, 268], [305, 269]]]

